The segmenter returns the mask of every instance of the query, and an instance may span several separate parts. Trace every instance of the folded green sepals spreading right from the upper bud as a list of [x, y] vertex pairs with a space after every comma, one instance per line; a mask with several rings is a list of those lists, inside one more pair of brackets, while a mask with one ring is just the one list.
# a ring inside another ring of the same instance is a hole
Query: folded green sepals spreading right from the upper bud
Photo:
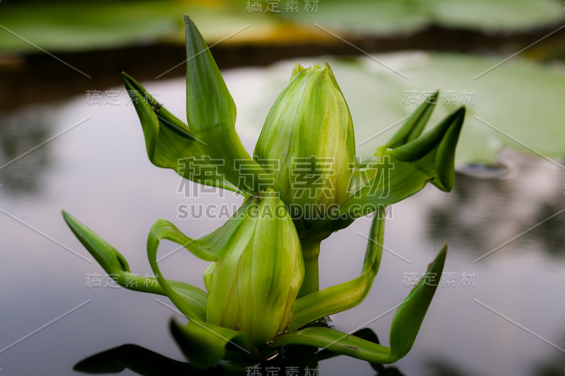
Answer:
[[[448, 192], [455, 180], [455, 151], [465, 107], [448, 115], [436, 128], [420, 135], [432, 104], [420, 107], [408, 119], [409, 126], [395, 135], [390, 145], [381, 147], [376, 156], [364, 162], [354, 172], [350, 198], [340, 207], [309, 229], [309, 234], [328, 233], [345, 229], [352, 222], [374, 212], [379, 207], [392, 205], [418, 193], [427, 183]], [[408, 141], [408, 142], [407, 142]], [[401, 142], [407, 142], [400, 145]], [[306, 235], [306, 234], [304, 234]]]

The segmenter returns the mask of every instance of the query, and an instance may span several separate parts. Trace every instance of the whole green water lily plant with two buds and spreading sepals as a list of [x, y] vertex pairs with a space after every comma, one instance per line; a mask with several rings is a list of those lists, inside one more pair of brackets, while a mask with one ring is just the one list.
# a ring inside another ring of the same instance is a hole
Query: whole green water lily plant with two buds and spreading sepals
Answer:
[[[116, 249], [63, 212], [66, 223], [118, 284], [165, 295], [186, 315], [189, 323], [174, 324], [172, 329], [198, 368], [210, 368], [220, 360], [261, 361], [281, 346], [295, 344], [371, 363], [402, 358], [412, 348], [436, 291], [434, 279], [444, 267], [446, 245], [398, 308], [390, 347], [309, 325], [352, 308], [367, 296], [381, 261], [387, 205], [410, 197], [428, 182], [451, 190], [465, 110], [458, 109], [422, 135], [436, 93], [374, 157], [357, 163], [351, 116], [331, 69], [327, 64], [297, 64], [270, 110], [251, 158], [234, 130], [235, 106], [222, 75], [194, 23], [188, 17], [185, 23], [188, 125], [123, 75], [141, 120], [148, 157], [191, 181], [240, 193], [244, 204], [220, 229], [198, 239], [159, 219], [147, 243], [154, 278], [132, 274]], [[304, 179], [299, 164], [309, 159], [328, 164], [310, 164]], [[312, 210], [319, 218], [308, 214]], [[371, 212], [375, 216], [361, 274], [320, 290], [321, 241]], [[204, 273], [208, 293], [162, 276], [157, 265], [162, 239], [211, 262]]]

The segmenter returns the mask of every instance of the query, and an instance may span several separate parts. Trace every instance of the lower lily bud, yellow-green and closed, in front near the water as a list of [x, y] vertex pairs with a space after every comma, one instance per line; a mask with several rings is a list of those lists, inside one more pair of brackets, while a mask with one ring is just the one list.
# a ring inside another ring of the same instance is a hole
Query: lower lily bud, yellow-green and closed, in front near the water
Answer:
[[283, 202], [252, 196], [232, 248], [204, 273], [208, 322], [247, 332], [255, 344], [272, 340], [292, 323], [304, 278], [300, 241]]

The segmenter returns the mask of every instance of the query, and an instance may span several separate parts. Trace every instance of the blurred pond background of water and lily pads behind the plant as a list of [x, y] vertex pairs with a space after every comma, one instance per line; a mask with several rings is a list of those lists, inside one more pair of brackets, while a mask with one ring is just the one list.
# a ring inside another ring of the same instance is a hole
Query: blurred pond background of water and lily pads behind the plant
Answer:
[[[182, 317], [165, 298], [108, 283], [60, 211], [150, 275], [153, 222], [198, 237], [237, 209], [232, 193], [150, 164], [121, 85], [126, 71], [186, 119], [186, 13], [222, 70], [249, 152], [297, 61], [332, 67], [362, 159], [430, 92], [441, 90], [430, 126], [467, 107], [453, 192], [427, 187], [393, 205], [371, 293], [332, 325], [369, 327], [388, 344], [393, 314], [383, 313], [447, 241], [444, 284], [394, 367], [407, 376], [562, 375], [564, 11], [562, 0], [2, 0], [0, 372], [78, 375], [80, 360], [122, 344], [183, 360], [167, 331]], [[369, 225], [359, 219], [322, 243], [322, 287], [357, 277]], [[206, 262], [170, 244], [160, 255], [167, 277], [203, 288]], [[320, 364], [324, 376], [345, 372], [376, 371], [345, 357]]]

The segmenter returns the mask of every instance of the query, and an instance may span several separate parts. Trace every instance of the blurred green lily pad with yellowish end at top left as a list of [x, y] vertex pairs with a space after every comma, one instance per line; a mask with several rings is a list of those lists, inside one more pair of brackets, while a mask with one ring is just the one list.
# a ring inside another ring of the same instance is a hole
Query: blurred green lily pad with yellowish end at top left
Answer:
[[[213, 3], [122, 0], [2, 4], [0, 25], [4, 30], [0, 30], [0, 51], [37, 51], [32, 44], [49, 52], [108, 49], [155, 41], [184, 45], [184, 13], [202, 25], [208, 42], [218, 41], [249, 22], [254, 22], [257, 30], [273, 23], [268, 18], [251, 19], [242, 4]], [[242, 35], [235, 35], [230, 42], [241, 38]]]

